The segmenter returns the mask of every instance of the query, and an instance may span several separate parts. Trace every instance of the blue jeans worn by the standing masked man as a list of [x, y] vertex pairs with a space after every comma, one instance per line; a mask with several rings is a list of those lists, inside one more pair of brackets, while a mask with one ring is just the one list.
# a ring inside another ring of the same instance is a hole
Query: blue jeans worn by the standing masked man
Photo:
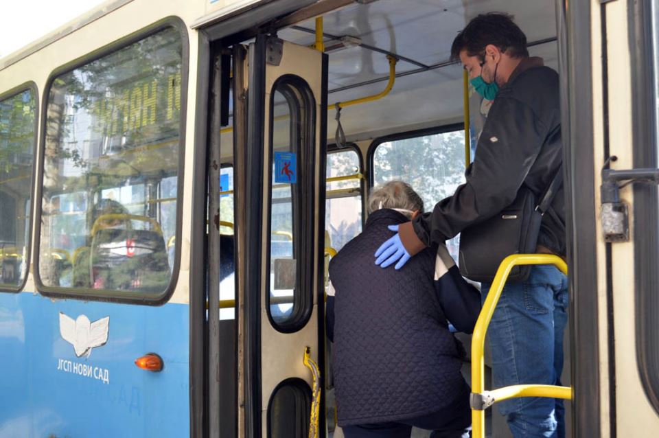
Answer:
[[[483, 302], [489, 288], [481, 287]], [[487, 329], [494, 388], [561, 384], [567, 310], [567, 277], [554, 266], [533, 266], [527, 281], [505, 286]], [[516, 438], [565, 437], [563, 400], [519, 397], [498, 408]]]

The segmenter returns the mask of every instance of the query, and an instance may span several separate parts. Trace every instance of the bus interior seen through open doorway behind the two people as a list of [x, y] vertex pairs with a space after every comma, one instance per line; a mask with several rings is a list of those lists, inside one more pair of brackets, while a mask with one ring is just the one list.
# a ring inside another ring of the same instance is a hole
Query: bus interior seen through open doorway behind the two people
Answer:
[[[320, 20], [314, 16], [269, 30], [269, 36], [284, 41], [284, 51], [288, 49], [286, 43], [292, 43], [310, 51], [321, 49], [328, 55], [325, 96], [327, 138], [321, 139], [327, 144], [323, 170], [326, 176], [323, 230], [325, 240], [319, 242], [324, 248], [325, 267], [334, 251], [340, 251], [345, 243], [362, 230], [367, 218], [367, 196], [370, 187], [394, 179], [406, 181], [423, 198], [426, 211], [430, 211], [435, 203], [450, 196], [455, 187], [463, 183], [465, 166], [474, 157], [478, 132], [483, 126], [491, 102], [483, 101], [471, 87], [465, 87], [461, 65], [450, 60], [450, 47], [454, 36], [471, 17], [492, 11], [512, 14], [516, 23], [527, 34], [531, 56], [540, 56], [545, 65], [553, 69], [558, 68], [553, 1], [533, 0], [514, 5], [508, 1], [358, 1], [326, 12]], [[264, 28], [268, 29], [265, 26]], [[322, 34], [321, 42], [319, 32]], [[242, 91], [236, 88], [236, 74], [240, 69], [236, 69], [235, 64], [241, 62], [236, 59], [236, 54], [240, 53], [240, 49], [236, 47], [246, 50], [248, 45], [254, 43], [255, 38], [248, 38], [238, 44], [225, 43], [216, 51], [211, 51], [216, 53], [216, 62], [224, 56], [224, 66], [233, 67], [232, 78], [227, 80], [231, 84], [231, 104], [226, 109], [229, 114], [224, 123], [220, 124], [219, 139], [221, 167], [218, 208], [220, 235], [224, 236], [233, 235], [233, 222], [238, 220], [234, 211], [234, 196], [240, 196], [239, 192], [234, 192], [233, 187], [234, 145], [240, 141], [234, 137], [234, 111], [240, 111], [240, 108], [235, 109], [235, 100], [244, 99], [244, 96], [240, 96]], [[323, 47], [319, 47], [320, 43]], [[301, 57], [292, 60], [294, 70], [319, 68], [319, 65], [312, 65], [314, 62], [320, 64], [319, 58], [313, 58], [312, 54], [306, 56], [307, 53], [310, 52], [302, 51]], [[267, 83], [266, 87], [270, 85], [270, 82]], [[286, 85], [277, 87], [275, 84], [274, 87], [270, 102], [272, 151], [294, 152], [298, 155], [298, 161], [301, 161], [305, 157], [305, 122], [300, 115], [303, 113], [301, 108], [303, 109], [304, 104], [296, 106], [291, 95], [301, 96], [303, 92], [295, 91], [294, 84], [292, 91], [287, 90]], [[466, 111], [463, 110], [465, 100], [468, 101]], [[210, 119], [213, 119], [212, 116]], [[218, 126], [213, 125], [211, 129], [218, 129]], [[469, 141], [465, 141], [465, 132], [468, 132], [466, 135], [470, 137]], [[268, 168], [267, 161], [264, 166]], [[294, 281], [292, 282], [290, 277], [295, 276], [296, 266], [300, 268], [296, 259], [305, 258], [300, 242], [308, 242], [308, 238], [303, 235], [303, 224], [299, 222], [300, 218], [307, 217], [299, 213], [305, 208], [304, 196], [307, 195], [297, 192], [292, 188], [294, 185], [281, 183], [275, 178], [278, 169], [273, 159], [270, 192], [264, 192], [264, 216], [268, 216], [267, 211], [270, 215], [269, 230], [266, 234], [269, 238], [265, 238], [269, 240], [269, 249], [264, 247], [264, 251], [268, 253], [266, 263], [269, 267], [266, 270], [270, 273], [270, 296], [265, 299], [269, 304], [268, 319], [273, 323], [285, 324], [288, 319], [294, 319], [297, 306], [292, 286]], [[302, 174], [300, 170], [300, 175]], [[264, 176], [264, 179], [266, 178], [267, 174]], [[457, 260], [459, 236], [446, 244]], [[235, 262], [229, 256], [222, 255], [222, 259], [224, 267], [221, 266], [220, 270], [224, 272], [227, 266], [229, 270], [220, 274], [220, 351], [237, 351], [238, 326], [235, 319], [236, 310], [233, 307]], [[278, 330], [281, 330], [281, 327]], [[277, 332], [272, 333], [273, 337], [268, 339], [268, 332], [264, 330], [262, 343], [281, 345], [285, 342], [277, 337]], [[458, 334], [458, 337], [465, 344], [467, 351], [470, 351], [470, 336]], [[566, 340], [568, 338], [569, 334], [566, 333]], [[569, 342], [565, 345], [563, 384], [569, 386]], [[327, 376], [323, 389], [325, 419], [329, 436], [340, 437], [340, 432], [335, 433], [337, 429], [331, 379], [332, 345], [329, 341], [326, 341], [324, 349]], [[486, 364], [489, 365], [487, 356]], [[463, 371], [468, 381], [467, 362]], [[220, 386], [238, 391], [232, 385], [233, 382], [238, 382], [237, 372], [235, 357], [227, 357], [225, 362], [220, 362]], [[264, 371], [263, 379], [266, 377], [270, 376]], [[268, 421], [268, 433], [273, 437], [292, 436], [287, 434], [292, 433], [295, 427], [303, 426], [292, 420], [294, 408], [284, 406], [292, 404], [291, 400], [296, 400], [292, 395], [296, 390], [291, 386], [287, 389], [290, 393], [287, 393], [279, 387], [275, 388], [278, 378], [272, 378], [273, 382], [263, 382], [264, 388], [274, 388], [270, 403], [277, 405], [279, 400], [279, 410], [289, 415], [285, 416], [286, 421], [282, 420], [280, 423]], [[266, 392], [264, 390], [264, 410], [267, 408], [268, 412], [272, 412], [272, 406], [265, 404], [268, 398]], [[220, 406], [222, 424], [238, 418], [235, 406], [223, 402], [220, 402]], [[569, 402], [566, 412], [569, 424]], [[488, 411], [487, 424], [488, 436], [511, 436], [505, 424], [505, 417], [498, 411]], [[413, 436], [425, 437], [428, 434], [415, 430]]]

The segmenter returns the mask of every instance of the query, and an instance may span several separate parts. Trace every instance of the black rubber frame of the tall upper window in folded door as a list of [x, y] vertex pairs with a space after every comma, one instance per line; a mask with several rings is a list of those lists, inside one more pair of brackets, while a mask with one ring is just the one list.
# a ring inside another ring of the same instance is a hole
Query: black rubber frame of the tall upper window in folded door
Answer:
[[[302, 260], [300, 255], [297, 255], [296, 259], [296, 277], [299, 279], [299, 284], [297, 287], [297, 291], [294, 290], [293, 294], [293, 310], [288, 316], [288, 318], [284, 321], [278, 322], [275, 321], [273, 318], [272, 312], [270, 311], [270, 297], [272, 295], [272, 290], [270, 290], [270, 270], [272, 269], [271, 265], [271, 260], [270, 260], [270, 253], [272, 251], [271, 249], [271, 236], [272, 236], [272, 206], [273, 206], [273, 164], [274, 164], [274, 125], [275, 125], [275, 120], [274, 120], [274, 111], [273, 109], [275, 108], [275, 92], [277, 92], [277, 87], [279, 85], [284, 84], [288, 85], [289, 87], [293, 87], [294, 89], [297, 89], [297, 92], [301, 94], [303, 99], [306, 99], [307, 102], [305, 103], [306, 107], [306, 117], [305, 117], [305, 126], [301, 126], [301, 129], [303, 129], [305, 132], [305, 141], [306, 144], [302, 144], [301, 146], [304, 148], [305, 146], [311, 146], [310, 150], [308, 151], [308, 154], [310, 154], [310, 162], [311, 163], [305, 163], [302, 159], [299, 159], [298, 163], [299, 166], [301, 167], [302, 165], [308, 165], [308, 175], [310, 178], [310, 181], [316, 181], [317, 175], [316, 175], [316, 160], [319, 159], [319, 157], [316, 157], [316, 137], [317, 137], [317, 132], [316, 132], [316, 122], [319, 117], [319, 114], [316, 111], [316, 97], [314, 96], [314, 92], [312, 91], [310, 85], [308, 82], [304, 79], [301, 78], [300, 76], [293, 75], [293, 74], [285, 74], [282, 76], [279, 76], [277, 80], [275, 80], [275, 83], [270, 89], [270, 101], [268, 102], [268, 106], [270, 108], [269, 111], [269, 116], [268, 116], [268, 143], [267, 143], [267, 148], [268, 148], [268, 163], [264, 163], [264, 165], [268, 166], [268, 179], [267, 179], [267, 192], [268, 192], [268, 198], [267, 198], [267, 216], [264, 215], [264, 218], [267, 217], [268, 220], [268, 226], [266, 228], [266, 234], [265, 238], [266, 240], [266, 260], [265, 260], [265, 265], [267, 273], [265, 276], [265, 290], [266, 290], [266, 315], [268, 316], [268, 321], [270, 321], [270, 326], [273, 327], [277, 332], [281, 333], [294, 333], [298, 332], [301, 330], [309, 320], [311, 319], [313, 309], [314, 309], [314, 260], [313, 257], [315, 255], [314, 253], [314, 238], [316, 238], [316, 233], [318, 230], [316, 230], [316, 224], [314, 223], [314, 220], [310, 221], [300, 221], [300, 227], [299, 227], [299, 233], [297, 236], [294, 234], [294, 238], [297, 238], [300, 240], [300, 248], [303, 248], [305, 245], [308, 246], [309, 252], [307, 255], [310, 255], [311, 260], [309, 260], [310, 263], [305, 264], [305, 261]], [[284, 95], [282, 91], [279, 91], [281, 95]], [[284, 95], [286, 97], [286, 95]], [[287, 99], [288, 102], [288, 99]], [[291, 122], [293, 121], [294, 113], [293, 111], [297, 111], [298, 115], [300, 114], [301, 111], [301, 102], [295, 102], [297, 108], [290, 108], [291, 114], [290, 114], [290, 120]], [[299, 121], [299, 119], [298, 119]], [[289, 136], [293, 135], [293, 130], [292, 128], [289, 130]], [[298, 132], [297, 135], [302, 135], [302, 132]], [[301, 150], [298, 151], [298, 153], [302, 152]], [[322, 151], [321, 151], [322, 153]], [[298, 157], [300, 158], [300, 157]], [[323, 168], [323, 172], [325, 172], [325, 168]], [[323, 174], [325, 176], [325, 174]], [[303, 181], [297, 182], [297, 184], [303, 184]], [[307, 187], [308, 189], [308, 187]], [[314, 194], [315, 188], [312, 187], [310, 189], [310, 193], [308, 193], [306, 196], [301, 196], [300, 200], [304, 200], [304, 205], [299, 206], [299, 214], [304, 213], [304, 207], [311, 207], [312, 209], [312, 217], [313, 217], [313, 210], [314, 210], [314, 205], [316, 203], [315, 199], [315, 194]], [[324, 194], [321, 194], [323, 198], [325, 197]], [[294, 211], [293, 211], [293, 196], [291, 196], [291, 211], [293, 214], [293, 233], [295, 233], [295, 225], [294, 225]], [[300, 200], [298, 202], [300, 202]], [[323, 207], [324, 211], [324, 207]], [[264, 214], [266, 211], [264, 211]], [[310, 228], [310, 229], [309, 229]], [[311, 239], [310, 242], [306, 242], [306, 237], [309, 237]], [[307, 290], [303, 290], [306, 288]]]

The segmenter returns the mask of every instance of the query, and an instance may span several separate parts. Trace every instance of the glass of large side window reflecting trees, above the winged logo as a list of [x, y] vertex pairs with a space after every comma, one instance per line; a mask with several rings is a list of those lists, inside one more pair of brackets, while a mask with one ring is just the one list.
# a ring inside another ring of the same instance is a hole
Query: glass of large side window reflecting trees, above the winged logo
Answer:
[[51, 82], [45, 292], [158, 299], [167, 290], [178, 244], [181, 64], [181, 34], [166, 27]]

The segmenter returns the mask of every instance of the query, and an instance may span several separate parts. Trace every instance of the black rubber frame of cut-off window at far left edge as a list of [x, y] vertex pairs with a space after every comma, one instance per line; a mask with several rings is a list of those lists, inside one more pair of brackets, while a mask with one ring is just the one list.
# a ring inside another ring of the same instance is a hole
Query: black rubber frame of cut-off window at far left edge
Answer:
[[27, 233], [27, 242], [26, 247], [27, 249], [25, 250], [25, 255], [23, 256], [24, 260], [27, 260], [27, 269], [25, 270], [25, 275], [23, 276], [23, 281], [19, 286], [16, 286], [16, 288], [12, 288], [8, 286], [7, 284], [0, 284], [0, 292], [9, 292], [9, 293], [17, 293], [21, 292], [25, 288], [25, 284], [27, 284], [27, 277], [30, 277], [30, 260], [32, 260], [30, 257], [32, 257], [32, 242], [33, 242], [33, 232], [34, 232], [34, 202], [36, 196], [34, 195], [34, 189], [36, 188], [36, 165], [38, 161], [37, 157], [37, 152], [38, 152], [38, 140], [39, 140], [39, 116], [41, 115], [41, 112], [39, 111], [40, 106], [39, 106], [39, 88], [33, 80], [29, 80], [27, 82], [23, 82], [22, 84], [9, 89], [8, 91], [5, 91], [3, 93], [0, 93], [0, 102], [3, 100], [10, 99], [11, 97], [14, 97], [16, 95], [19, 95], [21, 93], [24, 93], [25, 91], [32, 91], [34, 94], [34, 141], [32, 144], [32, 175], [30, 176], [30, 223], [27, 224], [28, 229], [30, 230]]

